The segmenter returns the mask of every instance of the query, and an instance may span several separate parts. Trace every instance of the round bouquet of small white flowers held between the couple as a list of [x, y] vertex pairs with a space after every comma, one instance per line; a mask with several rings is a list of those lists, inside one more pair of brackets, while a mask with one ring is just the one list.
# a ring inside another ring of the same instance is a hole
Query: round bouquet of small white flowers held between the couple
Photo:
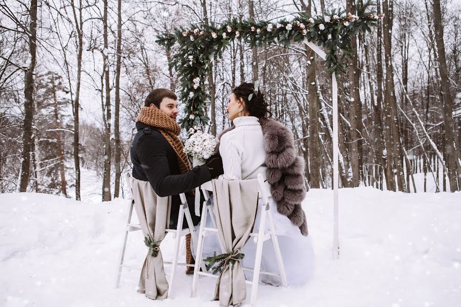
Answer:
[[214, 155], [218, 140], [211, 134], [203, 133], [200, 129], [194, 128], [191, 130], [197, 131], [184, 142], [183, 151], [194, 158], [206, 160]]

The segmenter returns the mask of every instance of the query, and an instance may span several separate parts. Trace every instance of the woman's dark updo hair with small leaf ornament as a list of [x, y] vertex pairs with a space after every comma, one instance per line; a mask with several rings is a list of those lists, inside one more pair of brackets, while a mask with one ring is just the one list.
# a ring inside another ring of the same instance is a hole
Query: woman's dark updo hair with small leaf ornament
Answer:
[[235, 97], [237, 99], [242, 98], [245, 103], [245, 110], [249, 113], [250, 116], [261, 118], [269, 118], [272, 116], [272, 113], [267, 108], [267, 103], [264, 100], [264, 95], [258, 89], [255, 91], [254, 83], [242, 83], [237, 86], [234, 91]]

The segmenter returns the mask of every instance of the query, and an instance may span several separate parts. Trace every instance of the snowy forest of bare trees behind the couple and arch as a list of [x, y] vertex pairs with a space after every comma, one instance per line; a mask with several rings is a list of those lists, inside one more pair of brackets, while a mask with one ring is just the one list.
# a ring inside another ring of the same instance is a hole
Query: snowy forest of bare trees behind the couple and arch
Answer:
[[[233, 17], [290, 19], [339, 7], [354, 13], [355, 2], [0, 1], [0, 193], [79, 200], [87, 172], [97, 179], [99, 198], [122, 196], [120, 177], [131, 169], [129, 148], [145, 96], [179, 86], [167, 65], [172, 53], [157, 45], [158, 34]], [[379, 0], [374, 8], [384, 19], [355, 37], [356, 53], [338, 76], [340, 187], [459, 190], [461, 3]], [[294, 131], [308, 188], [331, 188], [324, 61], [302, 43], [256, 49], [231, 42], [208, 73], [205, 131], [216, 135], [229, 126], [228, 96], [252, 80], [260, 81], [274, 117]]]

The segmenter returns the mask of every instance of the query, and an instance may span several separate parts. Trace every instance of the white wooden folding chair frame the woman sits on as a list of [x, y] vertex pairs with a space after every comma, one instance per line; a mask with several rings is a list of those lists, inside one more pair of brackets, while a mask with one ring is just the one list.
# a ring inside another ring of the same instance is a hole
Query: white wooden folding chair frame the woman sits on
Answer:
[[[285, 267], [283, 266], [283, 260], [282, 260], [282, 254], [280, 252], [280, 247], [279, 247], [279, 242], [277, 239], [277, 234], [276, 234], [276, 229], [274, 225], [274, 218], [269, 210], [269, 200], [268, 196], [266, 193], [266, 189], [264, 187], [264, 180], [261, 174], [258, 174], [258, 183], [259, 183], [259, 193], [260, 196], [263, 200], [263, 205], [258, 207], [258, 210], [260, 210], [260, 215], [259, 215], [259, 229], [257, 232], [252, 232], [250, 233], [250, 236], [254, 237], [254, 240], [256, 242], [256, 259], [255, 259], [255, 266], [254, 268], [243, 268], [244, 271], [253, 271], [253, 279], [252, 280], [246, 280], [247, 284], [250, 284], [252, 286], [252, 295], [251, 295], [251, 304], [254, 305], [256, 302], [256, 296], [258, 293], [258, 284], [259, 284], [259, 275], [260, 274], [266, 274], [266, 275], [272, 275], [272, 276], [280, 276], [282, 279], [282, 286], [287, 287], [287, 281], [286, 281], [286, 273], [285, 273]], [[203, 194], [205, 196], [205, 199], [208, 200], [209, 198], [209, 192], [212, 191], [212, 185], [211, 182], [207, 182], [202, 185], [202, 190]], [[205, 202], [206, 203], [206, 202]], [[197, 265], [194, 268], [194, 277], [192, 279], [192, 292], [191, 292], [191, 297], [195, 297], [197, 294], [197, 281], [198, 281], [198, 276], [203, 275], [203, 276], [208, 276], [208, 277], [214, 277], [218, 278], [218, 275], [213, 275], [211, 273], [206, 272], [206, 268], [203, 265], [203, 256], [202, 256], [202, 251], [203, 251], [203, 238], [208, 235], [217, 235], [218, 234], [218, 229], [216, 228], [216, 220], [215, 220], [215, 214], [213, 212], [214, 210], [211, 208], [210, 205], [206, 206], [205, 204], [203, 205], [202, 208], [202, 215], [201, 215], [201, 222], [200, 222], [200, 229], [199, 229], [199, 234], [198, 234], [198, 244], [197, 244], [197, 256], [196, 256], [196, 264]], [[207, 213], [209, 213], [209, 216], [213, 222], [213, 228], [212, 227], [206, 227], [206, 220], [207, 220]], [[268, 217], [269, 220], [269, 230], [266, 231], [266, 217]], [[261, 271], [261, 255], [262, 255], [262, 248], [263, 244], [266, 240], [272, 239], [272, 243], [274, 246], [274, 251], [275, 255], [277, 258], [277, 264], [279, 267], [279, 272], [267, 272], [267, 271]], [[221, 252], [225, 253], [225, 249], [222, 246], [221, 242], [219, 243], [221, 247]], [[200, 271], [202, 269], [202, 271]]]

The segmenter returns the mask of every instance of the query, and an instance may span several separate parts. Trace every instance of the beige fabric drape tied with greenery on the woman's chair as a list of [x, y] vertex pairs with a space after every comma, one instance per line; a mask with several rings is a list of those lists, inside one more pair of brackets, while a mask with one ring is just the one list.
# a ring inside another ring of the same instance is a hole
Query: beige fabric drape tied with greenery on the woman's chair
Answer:
[[[213, 180], [218, 237], [226, 253], [241, 251], [255, 224], [258, 180]], [[215, 289], [221, 306], [236, 305], [246, 298], [245, 275], [240, 261], [226, 260]]]

